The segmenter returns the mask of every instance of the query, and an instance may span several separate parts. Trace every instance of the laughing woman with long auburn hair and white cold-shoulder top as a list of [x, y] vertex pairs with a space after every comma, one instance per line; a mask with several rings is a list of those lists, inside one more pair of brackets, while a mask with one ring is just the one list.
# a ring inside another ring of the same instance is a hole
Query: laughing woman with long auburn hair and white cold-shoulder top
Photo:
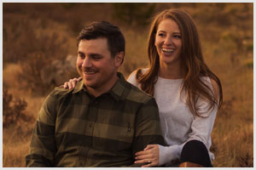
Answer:
[[[156, 99], [167, 146], [149, 144], [136, 153], [143, 167], [212, 167], [211, 133], [223, 94], [207, 67], [194, 21], [181, 9], [157, 14], [148, 39], [149, 65], [128, 77]], [[75, 81], [65, 83], [73, 88]]]

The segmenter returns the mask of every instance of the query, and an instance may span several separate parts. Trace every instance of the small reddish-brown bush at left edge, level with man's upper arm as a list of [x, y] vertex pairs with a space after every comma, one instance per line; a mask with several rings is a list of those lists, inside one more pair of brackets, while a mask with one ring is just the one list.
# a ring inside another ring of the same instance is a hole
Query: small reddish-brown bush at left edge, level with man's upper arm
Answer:
[[13, 124], [21, 127], [24, 122], [34, 121], [32, 116], [26, 114], [26, 106], [25, 99], [13, 99], [13, 95], [3, 87], [3, 128]]

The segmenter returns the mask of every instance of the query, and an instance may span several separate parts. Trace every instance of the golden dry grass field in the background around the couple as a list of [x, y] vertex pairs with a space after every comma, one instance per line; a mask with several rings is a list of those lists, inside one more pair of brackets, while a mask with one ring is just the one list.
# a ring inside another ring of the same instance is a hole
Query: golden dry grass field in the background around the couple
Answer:
[[[207, 65], [223, 86], [224, 104], [212, 131], [213, 166], [253, 167], [253, 3], [157, 3], [155, 13], [174, 7], [192, 14]], [[128, 77], [137, 67], [148, 64], [148, 26], [122, 25], [112, 14], [98, 13], [102, 8], [111, 11], [112, 6], [110, 3], [3, 5], [3, 85], [14, 98], [26, 100], [26, 114], [36, 119], [45, 94], [35, 95], [34, 90], [26, 88], [27, 82], [20, 79], [26, 54], [34, 50], [22, 46], [36, 42], [26, 44], [26, 36], [21, 36], [20, 46], [19, 38], [15, 39], [23, 32], [22, 25], [17, 25], [19, 20], [29, 20], [32, 25], [28, 26], [33, 26], [30, 29], [37, 36], [57, 33], [65, 37], [68, 54], [76, 54], [76, 35], [81, 27], [91, 20], [109, 20], [121, 28], [126, 39], [125, 61], [119, 71]], [[33, 126], [34, 123], [26, 123], [27, 133], [20, 133], [15, 125], [3, 129], [3, 167], [25, 167]]]

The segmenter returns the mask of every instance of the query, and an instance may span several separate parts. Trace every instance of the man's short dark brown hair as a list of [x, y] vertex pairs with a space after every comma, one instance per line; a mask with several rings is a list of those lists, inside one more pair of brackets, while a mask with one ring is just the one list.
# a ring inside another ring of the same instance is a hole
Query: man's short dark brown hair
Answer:
[[108, 21], [93, 21], [79, 33], [77, 46], [83, 39], [90, 40], [99, 37], [108, 39], [108, 50], [112, 57], [123, 51], [125, 54], [125, 37], [118, 26], [113, 26]]

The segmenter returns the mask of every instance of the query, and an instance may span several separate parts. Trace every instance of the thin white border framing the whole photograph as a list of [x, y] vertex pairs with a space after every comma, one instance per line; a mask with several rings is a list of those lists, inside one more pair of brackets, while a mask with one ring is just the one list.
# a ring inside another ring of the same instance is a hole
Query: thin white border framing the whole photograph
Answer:
[[[50, 1], [50, 0], [44, 0], [44, 1], [33, 1], [33, 0], [26, 0], [26, 1], [21, 1], [21, 0], [3, 0], [1, 1], [1, 4], [0, 4], [0, 10], [1, 10], [1, 19], [0, 19], [0, 24], [1, 24], [1, 32], [0, 32], [0, 37], [1, 37], [1, 54], [0, 54], [0, 59], [1, 59], [1, 64], [0, 64], [0, 67], [1, 67], [1, 78], [0, 78], [0, 87], [1, 87], [1, 92], [0, 94], [2, 95], [2, 99], [0, 101], [0, 104], [1, 104], [1, 115], [0, 115], [0, 121], [1, 121], [1, 124], [0, 124], [0, 151], [1, 151], [1, 154], [0, 154], [0, 168], [3, 167], [3, 3], [253, 3], [253, 35], [255, 35], [256, 31], [255, 31], [255, 11], [254, 11], [254, 8], [256, 6], [256, 3], [253, 1], [253, 0], [244, 0], [244, 1], [241, 1], [241, 0], [215, 0], [215, 1], [206, 1], [206, 0], [195, 0], [195, 1], [187, 1], [187, 0], [147, 0], [147, 1], [143, 1], [143, 0], [121, 0], [121, 1], [107, 1], [107, 0], [74, 0], [74, 1], [71, 1], [71, 0], [55, 0], [55, 1]], [[255, 44], [255, 38], [253, 37], [253, 44]], [[256, 101], [254, 100], [255, 97], [256, 97], [256, 91], [254, 90], [254, 80], [256, 78], [255, 76], [255, 71], [256, 71], [256, 68], [254, 66], [255, 62], [254, 62], [254, 59], [256, 57], [255, 56], [255, 46], [253, 46], [253, 113], [256, 111], [254, 105], [256, 105]], [[254, 158], [254, 154], [255, 154], [255, 131], [254, 131], [254, 121], [256, 120], [256, 116], [255, 114], [253, 114], [253, 167], [256, 167], [256, 160]], [[2, 147], [1, 147], [2, 146]], [[247, 168], [247, 169], [253, 169], [253, 167], [237, 167], [239, 169], [244, 169], [244, 168]], [[33, 169], [33, 168], [27, 168], [27, 167], [21, 167], [23, 169]], [[49, 168], [49, 167], [48, 167]], [[82, 167], [70, 167], [70, 168], [65, 168], [65, 169], [84, 169]], [[136, 167], [135, 169], [141, 169], [140, 167]], [[157, 167], [151, 167], [149, 169], [160, 169], [161, 167], [157, 168]], [[235, 168], [236, 167], [232, 167], [232, 168]], [[3, 169], [17, 169], [17, 167], [3, 167]], [[43, 167], [40, 167], [40, 168], [37, 168], [37, 169], [45, 169]], [[59, 168], [56, 168], [56, 169], [62, 169], [61, 167]], [[93, 169], [93, 168], [88, 168], [86, 167], [86, 169]], [[95, 168], [94, 168], [95, 169]], [[102, 169], [102, 168], [96, 168], [96, 169]], [[113, 167], [104, 167], [103, 169], [113, 169]], [[127, 169], [127, 168], [118, 168], [118, 169]], [[134, 168], [133, 168], [134, 169]], [[178, 168], [168, 168], [166, 167], [165, 169], [178, 169]], [[189, 168], [191, 169], [191, 168]], [[192, 168], [193, 169], [193, 168]], [[205, 169], [205, 168], [203, 168]], [[206, 169], [213, 169], [213, 168], [206, 168]], [[230, 169], [230, 167], [214, 167], [214, 169]]]

